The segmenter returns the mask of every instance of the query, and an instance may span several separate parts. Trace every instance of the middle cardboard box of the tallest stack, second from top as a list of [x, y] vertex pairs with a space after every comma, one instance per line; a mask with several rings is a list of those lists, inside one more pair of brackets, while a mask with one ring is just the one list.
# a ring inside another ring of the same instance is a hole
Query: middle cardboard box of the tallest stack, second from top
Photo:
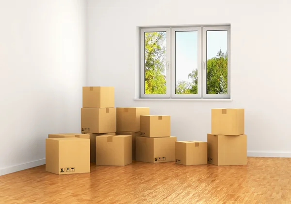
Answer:
[[116, 108], [81, 108], [81, 133], [116, 132]]

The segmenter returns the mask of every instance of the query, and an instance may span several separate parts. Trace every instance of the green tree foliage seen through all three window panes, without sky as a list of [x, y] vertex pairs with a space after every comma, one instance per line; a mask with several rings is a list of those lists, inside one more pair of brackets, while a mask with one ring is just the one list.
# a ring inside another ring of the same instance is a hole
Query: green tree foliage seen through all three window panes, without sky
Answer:
[[[166, 34], [145, 34], [145, 93], [166, 94]], [[189, 73], [191, 82], [178, 81], [176, 94], [197, 94], [198, 71]], [[218, 51], [216, 57], [207, 60], [207, 94], [227, 94], [227, 52]]]

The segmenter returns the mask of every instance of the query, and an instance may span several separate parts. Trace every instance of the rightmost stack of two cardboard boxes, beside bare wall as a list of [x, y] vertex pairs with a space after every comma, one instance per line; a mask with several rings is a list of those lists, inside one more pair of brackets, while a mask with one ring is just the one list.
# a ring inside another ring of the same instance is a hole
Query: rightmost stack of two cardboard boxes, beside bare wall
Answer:
[[207, 135], [208, 163], [246, 165], [247, 136], [244, 135], [244, 109], [212, 109], [211, 134]]

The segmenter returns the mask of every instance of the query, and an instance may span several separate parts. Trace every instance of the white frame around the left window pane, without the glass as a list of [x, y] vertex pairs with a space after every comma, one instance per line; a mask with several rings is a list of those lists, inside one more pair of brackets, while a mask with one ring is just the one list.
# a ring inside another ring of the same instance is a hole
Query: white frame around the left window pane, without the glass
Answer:
[[[145, 33], [166, 32], [166, 94], [145, 94]], [[170, 28], [141, 29], [141, 98], [170, 98]]]

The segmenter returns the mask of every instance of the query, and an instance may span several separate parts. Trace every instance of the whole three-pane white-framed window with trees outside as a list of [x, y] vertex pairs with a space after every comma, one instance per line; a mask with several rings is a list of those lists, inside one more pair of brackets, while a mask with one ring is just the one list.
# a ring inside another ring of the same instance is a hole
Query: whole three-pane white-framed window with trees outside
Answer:
[[141, 98], [230, 98], [230, 26], [141, 28]]

